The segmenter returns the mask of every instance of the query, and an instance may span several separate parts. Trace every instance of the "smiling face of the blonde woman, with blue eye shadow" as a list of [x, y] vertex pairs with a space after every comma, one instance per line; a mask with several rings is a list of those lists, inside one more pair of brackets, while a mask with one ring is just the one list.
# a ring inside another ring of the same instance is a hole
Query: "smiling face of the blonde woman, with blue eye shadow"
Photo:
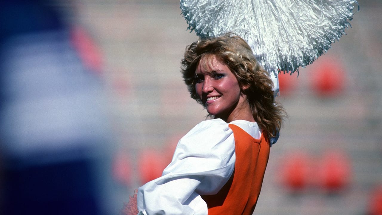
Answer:
[[231, 115], [240, 111], [245, 101], [236, 76], [224, 62], [210, 56], [209, 64], [199, 64], [195, 71], [196, 94], [207, 112], [227, 121]]

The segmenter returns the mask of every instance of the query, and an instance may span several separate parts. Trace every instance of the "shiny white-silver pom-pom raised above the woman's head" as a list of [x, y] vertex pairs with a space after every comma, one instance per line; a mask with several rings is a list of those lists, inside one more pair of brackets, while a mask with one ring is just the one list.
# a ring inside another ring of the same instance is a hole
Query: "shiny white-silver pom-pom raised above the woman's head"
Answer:
[[200, 37], [232, 32], [251, 46], [265, 70], [298, 72], [345, 34], [356, 0], [180, 0]]

